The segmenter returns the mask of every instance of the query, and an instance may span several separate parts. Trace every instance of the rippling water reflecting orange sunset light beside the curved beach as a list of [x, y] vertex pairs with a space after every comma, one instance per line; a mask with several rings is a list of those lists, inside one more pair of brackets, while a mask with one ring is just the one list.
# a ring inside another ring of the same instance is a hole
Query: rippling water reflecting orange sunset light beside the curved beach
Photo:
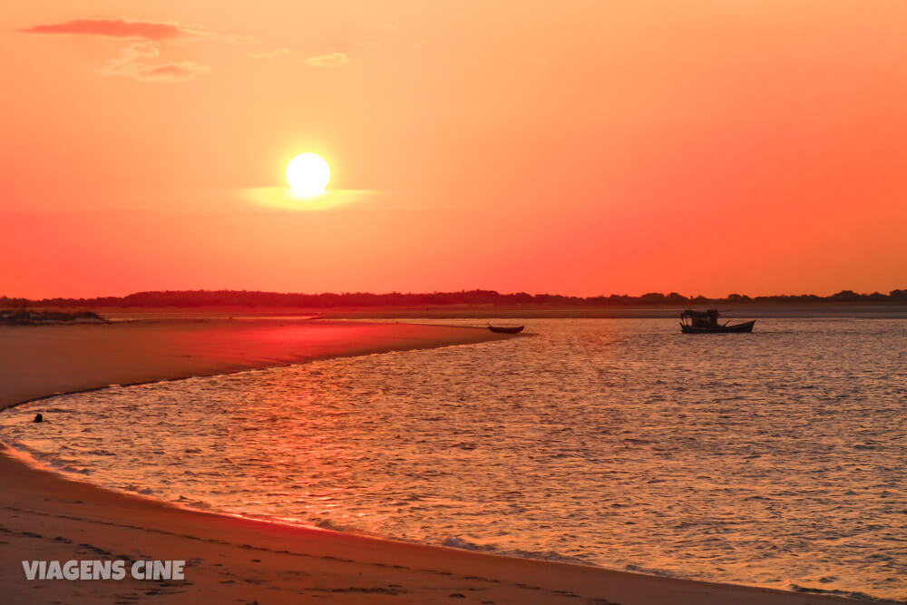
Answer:
[[[61, 396], [0, 414], [0, 438], [214, 510], [907, 599], [907, 321], [705, 337], [662, 319], [527, 325], [483, 345]], [[38, 411], [48, 422], [28, 422]]]

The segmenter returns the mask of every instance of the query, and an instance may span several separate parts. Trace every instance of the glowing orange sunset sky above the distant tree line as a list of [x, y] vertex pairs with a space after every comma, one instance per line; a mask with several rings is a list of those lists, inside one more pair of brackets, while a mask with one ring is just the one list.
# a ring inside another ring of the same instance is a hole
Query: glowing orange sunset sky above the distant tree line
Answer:
[[[0, 296], [907, 287], [907, 4], [0, 6]], [[297, 153], [331, 166], [286, 195]]]

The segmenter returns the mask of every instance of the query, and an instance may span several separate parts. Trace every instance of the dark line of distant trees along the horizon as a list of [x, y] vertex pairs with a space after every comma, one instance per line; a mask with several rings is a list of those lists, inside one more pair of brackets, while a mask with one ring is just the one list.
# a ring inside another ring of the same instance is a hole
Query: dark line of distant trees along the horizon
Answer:
[[730, 294], [727, 298], [685, 297], [677, 292], [663, 294], [649, 292], [639, 297], [612, 294], [598, 297], [568, 297], [560, 294], [527, 294], [516, 292], [501, 294], [494, 290], [463, 290], [460, 292], [431, 292], [423, 294], [373, 294], [346, 292], [343, 294], [290, 294], [247, 290], [178, 290], [162, 292], [136, 292], [125, 297], [102, 298], [28, 298], [0, 297], [0, 307], [424, 307], [441, 305], [536, 305], [563, 307], [627, 307], [627, 306], [683, 306], [707, 304], [748, 303], [863, 303], [887, 302], [907, 304], [907, 289], [892, 290], [888, 294], [873, 292], [859, 294], [842, 290], [837, 294], [820, 297], [814, 294], [748, 297]]

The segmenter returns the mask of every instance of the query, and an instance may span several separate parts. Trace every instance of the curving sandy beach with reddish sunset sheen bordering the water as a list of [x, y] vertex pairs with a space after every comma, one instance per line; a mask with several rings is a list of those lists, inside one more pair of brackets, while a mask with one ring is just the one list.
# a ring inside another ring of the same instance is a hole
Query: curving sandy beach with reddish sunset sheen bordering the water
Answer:
[[[481, 328], [181, 319], [0, 327], [0, 407], [58, 393], [334, 356], [499, 339]], [[128, 430], [128, 427], [123, 427]], [[682, 581], [390, 542], [114, 493], [0, 450], [7, 603], [824, 603], [831, 596]], [[185, 581], [26, 581], [23, 560], [185, 560]]]

